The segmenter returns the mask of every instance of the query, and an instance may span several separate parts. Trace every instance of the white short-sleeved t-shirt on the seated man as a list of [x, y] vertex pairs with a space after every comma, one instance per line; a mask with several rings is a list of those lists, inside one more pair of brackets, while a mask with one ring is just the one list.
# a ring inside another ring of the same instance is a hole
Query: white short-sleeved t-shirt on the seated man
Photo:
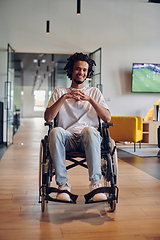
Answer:
[[[47, 108], [51, 107], [63, 94], [69, 93], [74, 88], [58, 87], [52, 93]], [[91, 96], [96, 102], [109, 109], [102, 93], [95, 87], [84, 87], [80, 89], [84, 94]], [[66, 99], [58, 114], [58, 126], [70, 132], [80, 133], [84, 127], [92, 126], [98, 128], [98, 115], [88, 101]]]

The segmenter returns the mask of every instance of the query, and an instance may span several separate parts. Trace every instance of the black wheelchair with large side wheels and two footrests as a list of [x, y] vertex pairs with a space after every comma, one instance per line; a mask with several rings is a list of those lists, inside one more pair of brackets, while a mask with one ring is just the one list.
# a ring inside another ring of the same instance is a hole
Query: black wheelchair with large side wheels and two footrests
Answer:
[[[93, 202], [92, 198], [95, 194], [103, 192], [107, 195], [107, 200], [99, 202], [108, 202], [110, 206], [110, 212], [116, 210], [116, 203], [118, 203], [118, 187], [117, 187], [117, 175], [118, 175], [118, 161], [117, 161], [117, 149], [113, 139], [110, 138], [109, 127], [113, 126], [113, 123], [101, 122], [99, 119], [98, 131], [102, 136], [101, 145], [101, 171], [104, 179], [104, 187], [94, 189], [93, 191], [84, 195], [85, 204], [97, 203]], [[40, 154], [39, 154], [39, 203], [41, 204], [41, 211], [45, 211], [45, 206], [48, 201], [52, 202], [65, 202], [52, 198], [50, 193], [61, 193], [67, 190], [59, 190], [58, 188], [51, 187], [52, 178], [55, 175], [55, 170], [53, 169], [53, 163], [49, 152], [49, 142], [48, 136], [49, 132], [53, 127], [57, 126], [57, 119], [54, 122], [46, 122], [45, 126], [48, 126], [48, 135], [45, 135], [44, 139], [40, 143]], [[81, 160], [77, 160], [77, 158]], [[66, 152], [66, 160], [69, 160], [71, 164], [66, 166], [69, 170], [78, 165], [87, 168], [85, 152]], [[78, 198], [67, 191], [70, 196], [71, 201], [65, 203], [76, 204]]]

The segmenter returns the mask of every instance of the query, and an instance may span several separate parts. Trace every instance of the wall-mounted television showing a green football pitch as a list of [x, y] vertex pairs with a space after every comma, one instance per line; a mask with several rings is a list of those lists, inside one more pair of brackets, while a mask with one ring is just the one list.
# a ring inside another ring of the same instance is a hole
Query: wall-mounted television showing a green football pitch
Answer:
[[133, 63], [131, 91], [160, 93], [160, 64]]

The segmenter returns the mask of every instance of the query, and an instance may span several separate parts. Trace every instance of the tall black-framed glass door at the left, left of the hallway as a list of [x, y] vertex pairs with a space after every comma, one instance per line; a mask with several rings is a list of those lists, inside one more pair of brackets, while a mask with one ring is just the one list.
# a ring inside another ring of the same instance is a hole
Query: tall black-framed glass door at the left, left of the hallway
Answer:
[[5, 109], [6, 109], [6, 143], [13, 143], [13, 117], [14, 117], [14, 50], [8, 44], [7, 81], [5, 82]]

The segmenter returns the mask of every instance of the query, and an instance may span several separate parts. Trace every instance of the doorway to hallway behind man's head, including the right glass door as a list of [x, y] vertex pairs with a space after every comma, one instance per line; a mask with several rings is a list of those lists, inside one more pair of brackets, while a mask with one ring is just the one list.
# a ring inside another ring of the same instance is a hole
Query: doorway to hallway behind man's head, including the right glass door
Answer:
[[[64, 66], [71, 54], [15, 53], [15, 106], [23, 117], [43, 117], [40, 107], [35, 108], [35, 91], [44, 91], [44, 107], [56, 87], [69, 87], [70, 79]], [[101, 48], [90, 53], [95, 60], [94, 75], [85, 81], [85, 86], [95, 86], [101, 91]], [[36, 110], [35, 110], [36, 109]]]

